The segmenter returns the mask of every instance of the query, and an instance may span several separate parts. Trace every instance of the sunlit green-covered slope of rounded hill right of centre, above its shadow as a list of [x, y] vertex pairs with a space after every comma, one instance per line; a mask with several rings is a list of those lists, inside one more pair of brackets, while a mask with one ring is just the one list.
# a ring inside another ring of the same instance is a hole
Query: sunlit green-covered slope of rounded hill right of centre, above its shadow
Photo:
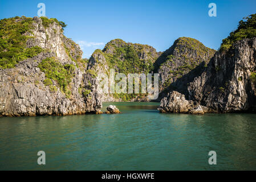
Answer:
[[[205, 47], [196, 39], [178, 38], [173, 46], [162, 53], [155, 63], [155, 71], [159, 72], [164, 80], [160, 85], [161, 89], [167, 88], [201, 63], [206, 65], [214, 53], [214, 49]], [[203, 69], [204, 67], [201, 68], [201, 70]]]

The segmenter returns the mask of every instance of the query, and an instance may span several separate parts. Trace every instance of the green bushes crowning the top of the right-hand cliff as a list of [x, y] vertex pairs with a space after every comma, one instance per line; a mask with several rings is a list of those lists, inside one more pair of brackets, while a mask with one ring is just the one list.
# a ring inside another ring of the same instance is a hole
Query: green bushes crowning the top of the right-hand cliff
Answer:
[[256, 36], [256, 14], [252, 14], [243, 19], [244, 20], [239, 22], [237, 30], [231, 32], [226, 39], [222, 40], [221, 51], [227, 51], [232, 44], [238, 40]]

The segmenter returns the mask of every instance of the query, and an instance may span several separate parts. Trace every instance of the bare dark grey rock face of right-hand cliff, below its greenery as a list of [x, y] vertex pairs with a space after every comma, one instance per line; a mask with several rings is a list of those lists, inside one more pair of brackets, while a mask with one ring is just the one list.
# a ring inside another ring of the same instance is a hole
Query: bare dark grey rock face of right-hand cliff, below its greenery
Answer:
[[243, 39], [227, 52], [217, 52], [201, 76], [188, 87], [189, 100], [210, 112], [254, 111], [256, 38]]

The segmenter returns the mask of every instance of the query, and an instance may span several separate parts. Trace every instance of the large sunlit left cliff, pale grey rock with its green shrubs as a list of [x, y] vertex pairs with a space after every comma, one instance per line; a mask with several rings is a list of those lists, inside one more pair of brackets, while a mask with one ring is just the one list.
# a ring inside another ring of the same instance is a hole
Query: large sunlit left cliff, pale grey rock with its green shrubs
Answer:
[[[15, 27], [25, 28], [18, 34]], [[4, 19], [0, 32], [0, 116], [100, 111], [97, 80], [83, 71], [82, 51], [58, 20]]]

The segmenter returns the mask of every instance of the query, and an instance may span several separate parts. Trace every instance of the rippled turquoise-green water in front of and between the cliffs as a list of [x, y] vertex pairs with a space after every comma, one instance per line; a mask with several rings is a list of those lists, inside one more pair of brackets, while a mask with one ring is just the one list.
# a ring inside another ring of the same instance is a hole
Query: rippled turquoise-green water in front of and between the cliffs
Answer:
[[[111, 104], [122, 114], [0, 118], [0, 169], [256, 169], [255, 114], [160, 114], [158, 103]], [[211, 150], [217, 165], [208, 164]], [[38, 151], [46, 152], [44, 166]]]

